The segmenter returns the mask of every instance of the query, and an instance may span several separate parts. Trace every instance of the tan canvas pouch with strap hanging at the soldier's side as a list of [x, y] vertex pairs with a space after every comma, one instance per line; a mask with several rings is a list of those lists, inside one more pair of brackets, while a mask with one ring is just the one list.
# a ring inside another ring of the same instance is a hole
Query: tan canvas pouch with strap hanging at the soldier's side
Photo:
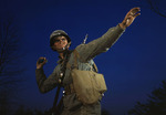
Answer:
[[[77, 59], [80, 58], [76, 50], [74, 53], [74, 67], [71, 70], [71, 76], [73, 79], [73, 86], [76, 93], [76, 97], [83, 104], [94, 104], [102, 98], [104, 92], [106, 92], [106, 84], [103, 74], [94, 71], [82, 71], [77, 69]], [[96, 67], [96, 65], [95, 65]], [[97, 69], [96, 69], [97, 71]]]

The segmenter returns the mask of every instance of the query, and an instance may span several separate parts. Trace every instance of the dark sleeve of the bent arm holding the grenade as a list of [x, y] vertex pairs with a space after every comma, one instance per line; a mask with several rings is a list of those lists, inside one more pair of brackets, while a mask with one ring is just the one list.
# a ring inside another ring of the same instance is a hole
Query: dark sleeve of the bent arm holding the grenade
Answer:
[[45, 76], [43, 69], [35, 70], [37, 84], [41, 93], [46, 93], [58, 85], [55, 76], [55, 70], [49, 77]]

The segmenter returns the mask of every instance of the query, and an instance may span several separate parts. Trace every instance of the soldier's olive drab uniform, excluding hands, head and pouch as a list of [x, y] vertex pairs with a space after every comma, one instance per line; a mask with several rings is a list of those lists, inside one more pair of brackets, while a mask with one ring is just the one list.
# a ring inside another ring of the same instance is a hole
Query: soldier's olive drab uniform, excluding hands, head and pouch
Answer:
[[[124, 32], [120, 25], [108, 29], [108, 31], [101, 38], [91, 41], [87, 44], [80, 44], [75, 48], [81, 56], [81, 61], [77, 62], [79, 70], [90, 71], [93, 66], [93, 59], [102, 52], [106, 52], [122, 35]], [[65, 59], [64, 59], [65, 60]], [[53, 70], [52, 74], [46, 77], [43, 69], [35, 70], [37, 83], [41, 93], [46, 93], [59, 84], [60, 70], [62, 67], [63, 60], [58, 61], [58, 65]], [[72, 65], [74, 63], [73, 53], [69, 58], [69, 63]], [[89, 65], [87, 65], [89, 63]], [[91, 65], [91, 66], [90, 66]], [[72, 84], [72, 76], [70, 75], [71, 70], [66, 67], [65, 76], [63, 80], [63, 86], [69, 86]], [[62, 115], [101, 115], [101, 105], [98, 103], [94, 105], [83, 105], [76, 98], [76, 94], [72, 93], [63, 97], [64, 111]]]

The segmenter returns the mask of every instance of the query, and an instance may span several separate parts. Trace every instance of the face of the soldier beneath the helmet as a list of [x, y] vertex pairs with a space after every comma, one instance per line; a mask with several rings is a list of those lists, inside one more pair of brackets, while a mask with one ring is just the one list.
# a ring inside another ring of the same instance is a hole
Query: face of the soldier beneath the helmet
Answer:
[[68, 44], [68, 40], [65, 36], [58, 36], [54, 41], [54, 49], [62, 50]]

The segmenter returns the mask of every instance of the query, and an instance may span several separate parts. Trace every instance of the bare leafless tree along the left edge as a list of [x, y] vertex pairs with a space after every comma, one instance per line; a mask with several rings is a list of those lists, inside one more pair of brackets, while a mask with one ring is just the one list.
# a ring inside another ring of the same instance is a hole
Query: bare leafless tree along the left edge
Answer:
[[20, 66], [20, 38], [12, 18], [0, 20], [0, 115], [8, 115], [15, 91], [24, 81]]

